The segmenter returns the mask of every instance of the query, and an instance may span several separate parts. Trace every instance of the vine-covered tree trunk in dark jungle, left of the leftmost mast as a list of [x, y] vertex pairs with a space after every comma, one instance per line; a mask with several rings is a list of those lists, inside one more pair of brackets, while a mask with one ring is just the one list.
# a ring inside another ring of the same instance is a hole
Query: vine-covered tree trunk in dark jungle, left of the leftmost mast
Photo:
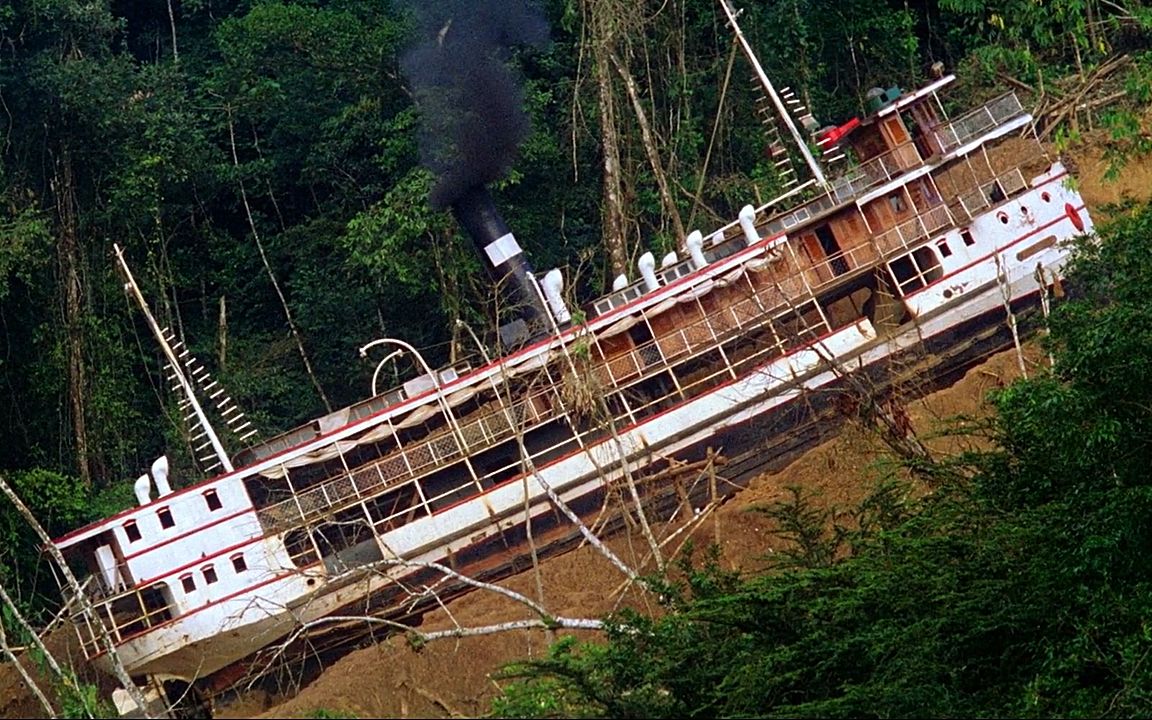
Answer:
[[88, 377], [84, 369], [84, 295], [81, 286], [81, 250], [76, 227], [76, 189], [71, 157], [67, 150], [56, 160], [52, 180], [59, 220], [56, 257], [60, 266], [65, 344], [68, 359], [68, 410], [76, 447], [76, 470], [84, 485], [92, 485], [88, 434]]

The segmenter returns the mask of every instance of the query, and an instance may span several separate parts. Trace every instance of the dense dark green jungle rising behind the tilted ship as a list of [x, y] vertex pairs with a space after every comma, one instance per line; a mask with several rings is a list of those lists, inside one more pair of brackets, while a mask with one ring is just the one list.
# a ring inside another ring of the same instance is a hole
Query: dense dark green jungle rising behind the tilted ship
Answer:
[[[707, 230], [779, 189], [715, 0], [538, 5], [551, 41], [511, 59], [533, 130], [495, 192], [538, 268], [566, 268], [588, 298], [613, 274], [611, 242], [628, 258], [667, 249], [672, 217]], [[1030, 79], [1135, 51], [1150, 26], [1142, 5], [1101, 0], [743, 5], [767, 73], [821, 123], [934, 61]], [[402, 73], [412, 7], [0, 3], [0, 472], [50, 531], [122, 507], [162, 453], [177, 486], [200, 477], [114, 243], [160, 324], [266, 434], [366, 395], [373, 367], [357, 349], [369, 340], [404, 338], [439, 363], [469, 351], [457, 320], [488, 325], [472, 250], [426, 200], [420, 111]], [[605, 230], [605, 103], [620, 139], [619, 233]], [[5, 508], [0, 533], [0, 582], [40, 607], [36, 543]]]

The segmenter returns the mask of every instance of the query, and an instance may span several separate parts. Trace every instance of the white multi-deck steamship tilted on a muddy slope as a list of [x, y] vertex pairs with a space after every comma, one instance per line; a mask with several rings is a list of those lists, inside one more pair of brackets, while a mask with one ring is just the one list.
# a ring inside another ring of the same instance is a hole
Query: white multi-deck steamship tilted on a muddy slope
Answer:
[[[638, 278], [578, 309], [560, 271], [537, 280], [488, 191], [471, 188], [453, 211], [517, 314], [495, 356], [433, 369], [401, 340], [369, 342], [381, 365], [419, 370], [229, 455], [207, 419], [223, 407], [215, 391], [202, 392], [121, 256], [221, 467], [173, 490], [160, 458], [136, 482], [137, 507], [54, 540], [93, 609], [71, 605], [88, 658], [111, 667], [106, 632], [142, 682], [226, 687], [312, 621], [415, 612], [450, 584], [438, 566], [515, 571], [529, 531], [561, 547], [576, 537], [566, 513], [597, 517], [629, 486], [689, 513], [735, 492], [849, 379], [882, 382], [909, 354], [945, 373], [1008, 341], [1013, 313], [1059, 278], [1066, 241], [1092, 229], [1016, 96], [949, 118], [940, 93], [955, 78], [941, 73], [818, 128], [721, 6], [810, 177], [692, 232], [682, 257], [644, 255]], [[706, 452], [723, 458], [719, 490], [661, 479]]]

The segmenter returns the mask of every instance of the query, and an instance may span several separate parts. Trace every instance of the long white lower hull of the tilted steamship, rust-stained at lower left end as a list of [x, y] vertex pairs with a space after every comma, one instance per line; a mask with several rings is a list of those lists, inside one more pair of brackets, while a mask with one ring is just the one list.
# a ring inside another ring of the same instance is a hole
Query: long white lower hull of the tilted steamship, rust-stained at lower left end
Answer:
[[[404, 563], [441, 562], [524, 525], [525, 488], [532, 515], [543, 516], [553, 509], [541, 483], [576, 502], [601, 493], [606, 484], [623, 477], [626, 468], [639, 471], [658, 458], [682, 455], [734, 427], [768, 418], [802, 395], [835, 385], [846, 371], [882, 366], [925, 343], [950, 343], [955, 339], [949, 333], [965, 324], [1002, 321], [1006, 293], [1020, 301], [1046, 291], [1037, 280], [1037, 266], [1047, 271], [1048, 279], [1059, 274], [1067, 258], [1063, 241], [1091, 230], [1090, 221], [1081, 220], [1077, 227], [1074, 213], [1066, 210], [1083, 212], [1083, 202], [1061, 184], [1062, 176], [1056, 165], [1036, 179], [1031, 190], [976, 218], [969, 229], [977, 241], [971, 252], [978, 257], [946, 267], [938, 281], [908, 295], [915, 319], [896, 333], [880, 338], [867, 319], [839, 328], [744, 377], [617, 429], [619, 439], [571, 452], [541, 464], [536, 476], [503, 482], [478, 498], [378, 536], [380, 553], [393, 560], [376, 567], [344, 575], [329, 575], [323, 563], [296, 568], [280, 538], [264, 538], [259, 543], [271, 569], [258, 584], [126, 639], [118, 649], [121, 661], [134, 675], [210, 676], [305, 623], [364, 606], [395, 589], [417, 571]], [[960, 245], [960, 228], [940, 237]], [[1046, 238], [1054, 242], [1038, 242]], [[101, 655], [99, 661], [104, 660]]]

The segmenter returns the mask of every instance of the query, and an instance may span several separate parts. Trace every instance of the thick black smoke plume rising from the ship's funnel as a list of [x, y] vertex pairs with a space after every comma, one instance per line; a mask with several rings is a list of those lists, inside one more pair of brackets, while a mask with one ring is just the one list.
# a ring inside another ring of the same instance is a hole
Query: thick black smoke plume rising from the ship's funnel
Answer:
[[420, 152], [444, 209], [500, 179], [530, 124], [514, 46], [543, 47], [547, 21], [528, 0], [410, 0], [420, 41], [401, 60], [423, 115]]

